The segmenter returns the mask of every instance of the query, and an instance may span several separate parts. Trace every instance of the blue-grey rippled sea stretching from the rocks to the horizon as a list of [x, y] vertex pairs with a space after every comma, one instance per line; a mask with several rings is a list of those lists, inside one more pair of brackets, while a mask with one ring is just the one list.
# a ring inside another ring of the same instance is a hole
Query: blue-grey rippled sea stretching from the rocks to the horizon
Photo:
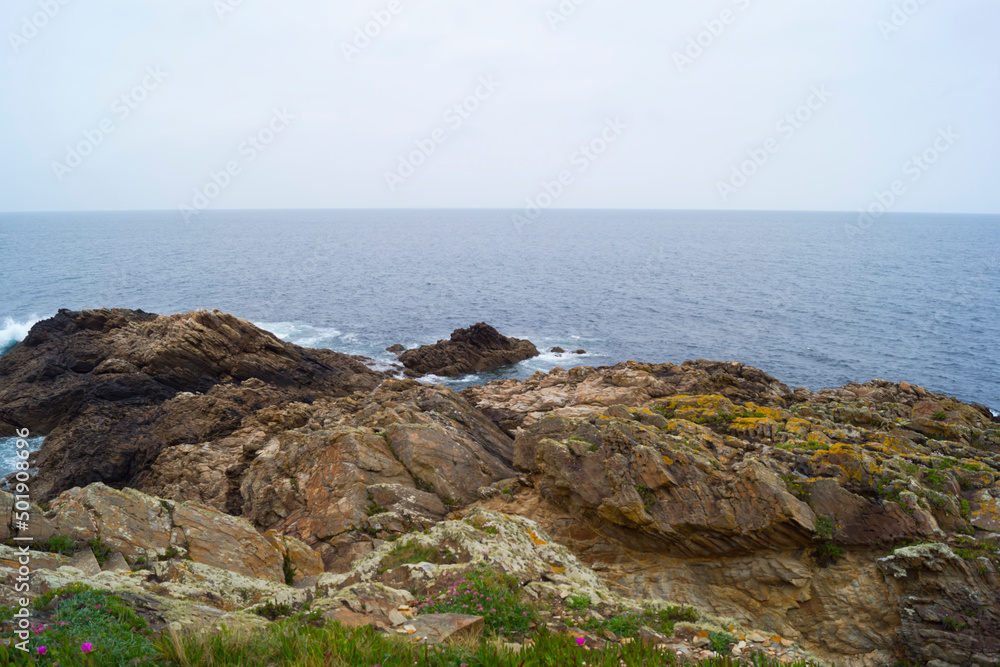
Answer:
[[[1000, 410], [998, 256], [1000, 216], [0, 213], [0, 352], [60, 308], [218, 308], [381, 367], [394, 343], [488, 322], [543, 354], [436, 380], [735, 360], [792, 387], [884, 378]], [[0, 473], [12, 443], [0, 442]]]

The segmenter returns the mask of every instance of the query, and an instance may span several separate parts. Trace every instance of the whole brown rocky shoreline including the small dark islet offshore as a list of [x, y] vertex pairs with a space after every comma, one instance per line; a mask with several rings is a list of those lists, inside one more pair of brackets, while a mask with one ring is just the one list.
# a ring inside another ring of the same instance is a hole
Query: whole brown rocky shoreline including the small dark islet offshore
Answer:
[[[538, 350], [479, 323], [397, 351], [401, 366], [376, 371], [220, 311], [60, 311], [0, 357], [0, 436], [46, 437], [30, 529], [0, 492], [0, 542], [100, 544], [104, 563], [33, 552], [32, 594], [86, 582], [187, 631], [308, 604], [434, 637], [414, 600], [486, 564], [522, 582], [537, 628], [594, 645], [1000, 663], [1000, 420], [986, 407], [887, 380], [789, 388], [705, 360], [456, 393], [414, 377]], [[16, 571], [0, 546], [5, 604]], [[584, 598], [589, 611], [570, 604]], [[697, 620], [669, 635], [607, 624], [678, 605]]]

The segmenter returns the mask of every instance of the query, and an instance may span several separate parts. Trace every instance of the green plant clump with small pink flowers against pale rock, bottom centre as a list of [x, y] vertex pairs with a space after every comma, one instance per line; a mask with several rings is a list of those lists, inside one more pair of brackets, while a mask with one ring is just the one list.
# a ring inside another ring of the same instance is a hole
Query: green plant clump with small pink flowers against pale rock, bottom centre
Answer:
[[516, 637], [528, 632], [537, 613], [522, 601], [517, 577], [479, 566], [431, 589], [417, 601], [418, 614], [473, 614], [486, 619], [486, 632]]

